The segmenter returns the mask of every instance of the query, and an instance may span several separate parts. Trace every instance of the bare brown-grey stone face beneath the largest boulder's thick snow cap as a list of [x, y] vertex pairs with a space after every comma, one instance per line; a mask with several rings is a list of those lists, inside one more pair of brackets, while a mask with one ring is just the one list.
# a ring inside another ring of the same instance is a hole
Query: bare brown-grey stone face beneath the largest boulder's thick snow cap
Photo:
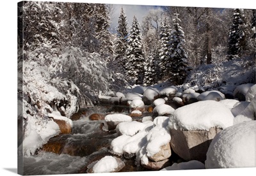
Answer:
[[204, 163], [212, 138], [221, 131], [220, 128], [206, 130], [171, 129], [171, 147], [180, 158]]

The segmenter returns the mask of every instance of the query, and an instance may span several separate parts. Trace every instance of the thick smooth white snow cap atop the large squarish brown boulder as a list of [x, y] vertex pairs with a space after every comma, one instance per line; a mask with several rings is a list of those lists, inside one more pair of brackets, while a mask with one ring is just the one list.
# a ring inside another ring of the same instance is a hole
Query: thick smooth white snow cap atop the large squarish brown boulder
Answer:
[[169, 127], [180, 130], [207, 130], [233, 125], [234, 116], [222, 103], [207, 100], [182, 106], [170, 117]]

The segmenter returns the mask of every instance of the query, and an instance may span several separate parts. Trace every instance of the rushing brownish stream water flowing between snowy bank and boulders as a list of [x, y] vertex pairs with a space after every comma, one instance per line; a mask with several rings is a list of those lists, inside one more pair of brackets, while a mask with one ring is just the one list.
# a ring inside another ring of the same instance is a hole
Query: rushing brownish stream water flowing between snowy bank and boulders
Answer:
[[[54, 136], [35, 156], [24, 158], [24, 175], [50, 175], [65, 173], [87, 173], [87, 166], [109, 152], [111, 141], [118, 135], [115, 131], [104, 130], [104, 121], [90, 121], [93, 113], [129, 114], [127, 106], [96, 106], [88, 110], [86, 117], [73, 121], [72, 133]], [[148, 115], [148, 114], [144, 114]], [[137, 118], [134, 120], [139, 121]], [[120, 172], [147, 170], [135, 165], [135, 159], [116, 156], [125, 163]]]

